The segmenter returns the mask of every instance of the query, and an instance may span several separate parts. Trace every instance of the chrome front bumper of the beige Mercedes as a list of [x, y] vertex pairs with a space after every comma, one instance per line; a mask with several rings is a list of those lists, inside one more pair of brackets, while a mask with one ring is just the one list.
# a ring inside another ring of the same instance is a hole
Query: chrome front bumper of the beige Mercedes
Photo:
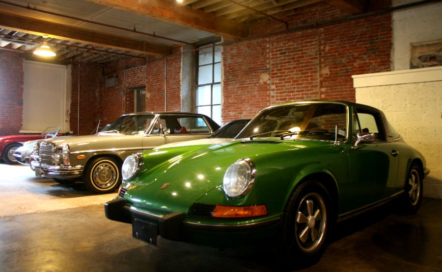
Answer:
[[81, 177], [83, 175], [84, 166], [59, 166], [40, 164], [38, 161], [30, 162], [31, 169], [35, 171], [37, 176], [45, 176], [50, 178], [71, 179]]

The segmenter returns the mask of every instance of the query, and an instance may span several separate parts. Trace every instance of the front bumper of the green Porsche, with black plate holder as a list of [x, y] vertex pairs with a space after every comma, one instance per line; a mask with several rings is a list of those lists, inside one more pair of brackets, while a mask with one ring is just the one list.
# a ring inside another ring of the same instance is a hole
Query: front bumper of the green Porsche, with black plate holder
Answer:
[[[262, 242], [275, 232], [282, 215], [269, 215], [265, 218], [241, 219], [229, 224], [207, 219], [191, 218], [184, 213], [161, 213], [141, 210], [130, 206], [123, 198], [105, 203], [105, 214], [110, 220], [131, 223], [132, 236], [150, 244], [157, 244], [157, 236], [168, 240], [191, 242], [213, 247], [229, 247]], [[227, 222], [224, 221], [224, 222]]]

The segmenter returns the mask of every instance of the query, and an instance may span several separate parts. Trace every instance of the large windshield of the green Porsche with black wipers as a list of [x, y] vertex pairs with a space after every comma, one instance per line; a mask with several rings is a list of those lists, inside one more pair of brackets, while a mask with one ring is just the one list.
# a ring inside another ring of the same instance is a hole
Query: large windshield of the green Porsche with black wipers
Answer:
[[262, 111], [235, 138], [344, 141], [347, 123], [347, 107], [343, 104], [283, 105]]

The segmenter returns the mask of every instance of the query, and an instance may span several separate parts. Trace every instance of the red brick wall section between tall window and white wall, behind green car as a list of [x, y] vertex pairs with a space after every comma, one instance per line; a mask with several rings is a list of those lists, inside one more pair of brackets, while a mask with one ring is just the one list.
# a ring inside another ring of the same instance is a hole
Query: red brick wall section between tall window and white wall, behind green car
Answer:
[[[376, 1], [376, 8], [388, 3]], [[288, 101], [355, 101], [352, 74], [391, 69], [391, 15], [302, 28], [317, 18], [326, 22], [346, 16], [334, 7], [318, 7], [285, 18], [291, 31], [274, 35], [284, 25], [266, 22], [250, 30], [256, 38], [224, 46], [222, 122]]]

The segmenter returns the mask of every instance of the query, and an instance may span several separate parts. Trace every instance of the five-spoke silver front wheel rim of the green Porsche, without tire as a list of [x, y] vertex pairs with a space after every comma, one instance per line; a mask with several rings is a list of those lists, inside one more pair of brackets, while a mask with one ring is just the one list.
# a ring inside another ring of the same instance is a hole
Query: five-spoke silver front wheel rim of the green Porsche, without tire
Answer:
[[313, 251], [322, 243], [327, 223], [324, 200], [313, 193], [301, 201], [295, 223], [295, 232], [300, 247], [308, 252]]

